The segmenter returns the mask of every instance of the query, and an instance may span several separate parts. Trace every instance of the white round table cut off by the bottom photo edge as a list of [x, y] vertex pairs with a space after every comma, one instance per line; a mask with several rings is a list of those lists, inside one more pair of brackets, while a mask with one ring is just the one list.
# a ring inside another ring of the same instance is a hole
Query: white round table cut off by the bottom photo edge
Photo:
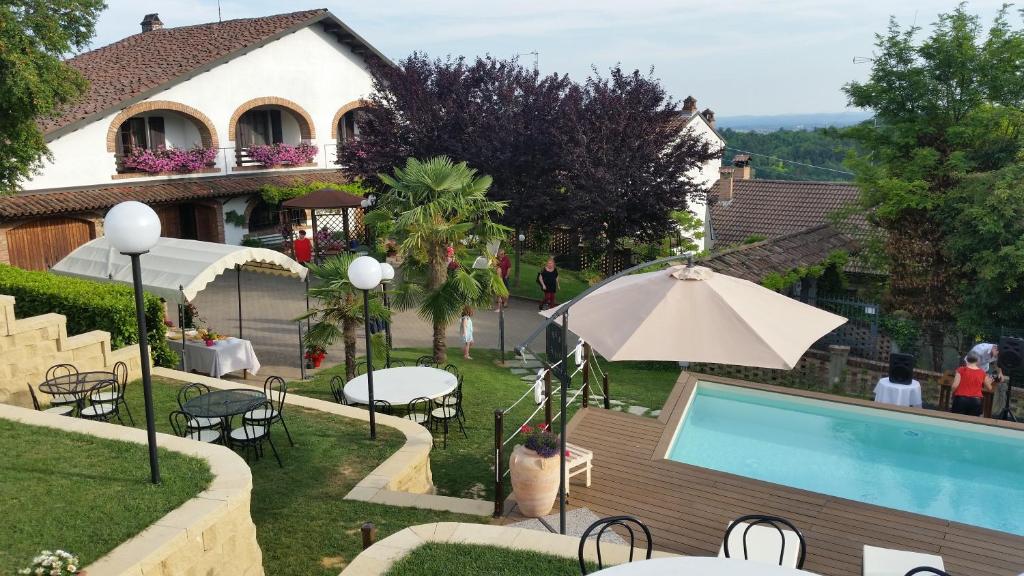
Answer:
[[677, 557], [634, 561], [594, 572], [607, 576], [817, 576], [772, 564], [714, 557]]

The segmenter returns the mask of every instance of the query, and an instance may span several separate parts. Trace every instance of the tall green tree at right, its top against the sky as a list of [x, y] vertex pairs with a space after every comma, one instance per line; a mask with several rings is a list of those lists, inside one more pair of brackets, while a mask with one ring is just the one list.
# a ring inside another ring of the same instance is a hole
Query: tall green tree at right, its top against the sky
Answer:
[[866, 150], [849, 165], [869, 218], [887, 232], [891, 304], [923, 321], [933, 344], [973, 281], [965, 255], [950, 250], [949, 214], [969, 207], [953, 192], [1021, 151], [1024, 34], [1009, 13], [1004, 7], [986, 32], [961, 4], [923, 40], [919, 28], [892, 19], [877, 36], [868, 80], [844, 88], [850, 105], [876, 113], [848, 131]]

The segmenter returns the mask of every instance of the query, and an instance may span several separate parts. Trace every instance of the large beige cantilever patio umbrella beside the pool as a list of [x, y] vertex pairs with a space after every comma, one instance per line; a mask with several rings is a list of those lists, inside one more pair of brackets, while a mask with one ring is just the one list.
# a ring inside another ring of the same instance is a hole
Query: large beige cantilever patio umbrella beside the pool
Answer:
[[610, 361], [782, 369], [846, 322], [753, 282], [683, 265], [614, 280], [572, 304], [568, 317], [569, 330]]

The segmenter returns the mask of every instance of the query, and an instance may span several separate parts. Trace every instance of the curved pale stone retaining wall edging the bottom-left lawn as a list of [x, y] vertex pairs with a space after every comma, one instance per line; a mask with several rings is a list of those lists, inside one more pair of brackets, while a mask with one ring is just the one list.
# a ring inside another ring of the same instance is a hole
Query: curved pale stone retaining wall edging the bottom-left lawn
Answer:
[[[0, 404], [0, 418], [145, 444], [145, 430], [69, 418]], [[178, 508], [85, 567], [89, 576], [263, 576], [263, 554], [249, 516], [252, 475], [239, 455], [219, 445], [157, 435], [161, 448], [203, 458], [213, 482]], [[144, 464], [143, 464], [144, 465]]]

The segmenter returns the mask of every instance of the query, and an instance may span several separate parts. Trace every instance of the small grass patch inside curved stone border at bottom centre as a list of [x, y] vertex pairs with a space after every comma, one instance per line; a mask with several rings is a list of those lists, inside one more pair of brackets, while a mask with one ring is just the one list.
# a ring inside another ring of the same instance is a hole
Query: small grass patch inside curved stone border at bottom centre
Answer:
[[[588, 572], [596, 566], [588, 563]], [[513, 550], [477, 544], [441, 544], [429, 542], [394, 563], [386, 576], [423, 576], [426, 574], [458, 574], [459, 576], [575, 576], [580, 564], [575, 559]]]

